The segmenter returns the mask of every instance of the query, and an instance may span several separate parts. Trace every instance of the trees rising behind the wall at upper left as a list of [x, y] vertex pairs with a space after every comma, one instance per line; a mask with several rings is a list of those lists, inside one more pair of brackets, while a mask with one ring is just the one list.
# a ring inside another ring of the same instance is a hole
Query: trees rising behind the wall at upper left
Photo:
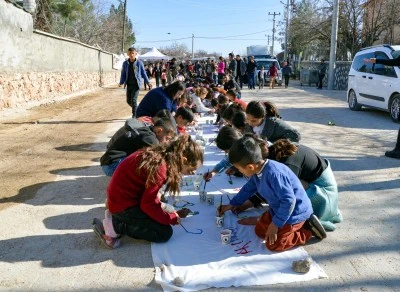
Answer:
[[35, 28], [78, 40], [112, 53], [121, 53], [135, 43], [132, 21], [125, 18], [124, 2], [107, 0], [38, 0]]

